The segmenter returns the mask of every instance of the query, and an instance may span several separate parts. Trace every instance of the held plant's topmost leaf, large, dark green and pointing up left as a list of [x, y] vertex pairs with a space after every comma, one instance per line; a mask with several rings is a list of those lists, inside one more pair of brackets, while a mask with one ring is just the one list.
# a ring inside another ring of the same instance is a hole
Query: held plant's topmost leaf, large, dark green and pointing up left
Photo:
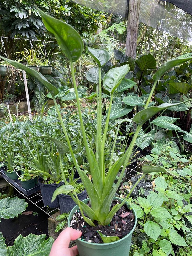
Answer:
[[61, 47], [63, 53], [75, 62], [81, 56], [84, 45], [79, 33], [69, 24], [53, 18], [52, 16], [42, 12], [39, 13], [47, 30], [55, 35], [55, 38]]

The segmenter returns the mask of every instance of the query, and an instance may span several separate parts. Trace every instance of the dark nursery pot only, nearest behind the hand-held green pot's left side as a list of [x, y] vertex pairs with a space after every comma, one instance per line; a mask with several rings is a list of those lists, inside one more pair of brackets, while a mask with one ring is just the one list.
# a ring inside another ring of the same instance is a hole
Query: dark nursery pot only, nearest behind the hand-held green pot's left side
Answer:
[[[77, 182], [81, 183], [81, 180], [78, 180]], [[57, 187], [60, 187], [62, 185], [64, 185], [64, 182], [59, 183], [57, 185]], [[70, 212], [73, 209], [73, 207], [76, 205], [76, 203], [73, 201], [73, 199], [69, 195], [60, 194], [60, 195], [58, 195], [58, 197], [59, 197], [59, 206], [60, 206], [61, 214], [63, 212]], [[86, 199], [87, 198], [86, 190], [84, 190], [83, 192], [77, 194], [77, 197], [81, 201]]]

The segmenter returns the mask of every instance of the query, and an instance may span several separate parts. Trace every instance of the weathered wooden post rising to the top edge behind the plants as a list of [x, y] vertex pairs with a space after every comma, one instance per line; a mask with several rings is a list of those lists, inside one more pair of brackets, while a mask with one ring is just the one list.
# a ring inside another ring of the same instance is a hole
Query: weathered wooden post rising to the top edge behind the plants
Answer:
[[126, 55], [136, 58], [137, 35], [141, 0], [129, 0], [129, 16], [127, 26]]

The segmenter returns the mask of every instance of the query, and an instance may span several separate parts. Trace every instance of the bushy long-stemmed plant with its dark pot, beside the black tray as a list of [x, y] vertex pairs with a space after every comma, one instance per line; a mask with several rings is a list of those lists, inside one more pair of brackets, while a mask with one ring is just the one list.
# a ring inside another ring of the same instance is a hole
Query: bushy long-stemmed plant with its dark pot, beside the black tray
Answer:
[[30, 149], [28, 145], [25, 152], [28, 156], [28, 160], [24, 160], [29, 167], [28, 172], [40, 176], [38, 182], [44, 205], [57, 208], [59, 207], [58, 197], [51, 202], [52, 195], [62, 177], [56, 147], [53, 147], [50, 142], [45, 142], [45, 144], [34, 142], [32, 146], [33, 149]]

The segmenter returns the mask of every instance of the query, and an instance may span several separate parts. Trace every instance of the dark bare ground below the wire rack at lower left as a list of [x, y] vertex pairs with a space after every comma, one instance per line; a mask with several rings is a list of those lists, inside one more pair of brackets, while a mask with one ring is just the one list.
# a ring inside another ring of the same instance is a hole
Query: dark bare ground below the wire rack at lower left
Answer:
[[33, 213], [25, 215], [20, 214], [18, 217], [13, 219], [1, 219], [0, 222], [0, 232], [2, 232], [3, 237], [6, 239], [5, 243], [7, 246], [12, 246], [14, 240], [22, 234], [26, 237], [29, 234], [41, 235], [46, 234], [48, 238], [48, 215], [41, 211], [38, 207], [28, 201], [25, 197], [22, 197], [17, 191], [14, 190], [14, 195], [19, 198], [24, 198], [28, 203], [28, 207], [25, 212], [37, 212], [38, 215], [33, 215]]

